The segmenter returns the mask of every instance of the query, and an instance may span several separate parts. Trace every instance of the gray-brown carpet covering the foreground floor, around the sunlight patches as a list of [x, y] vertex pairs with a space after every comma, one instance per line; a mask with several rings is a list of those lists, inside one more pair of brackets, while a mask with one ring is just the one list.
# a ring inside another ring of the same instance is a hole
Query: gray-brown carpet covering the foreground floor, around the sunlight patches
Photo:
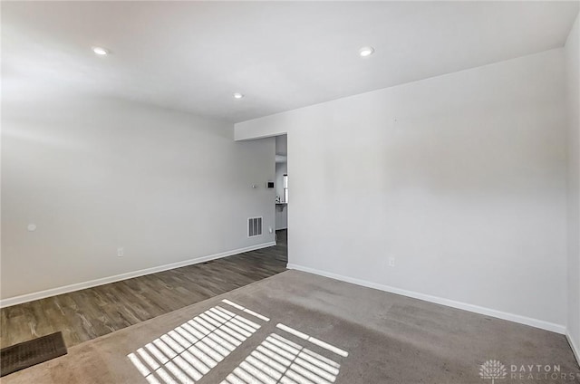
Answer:
[[[488, 360], [500, 365], [481, 378]], [[511, 376], [511, 365], [531, 364], [556, 365], [559, 376]], [[563, 335], [288, 271], [84, 342], [1, 381], [483, 384], [492, 376], [496, 383], [580, 382], [580, 369]]]

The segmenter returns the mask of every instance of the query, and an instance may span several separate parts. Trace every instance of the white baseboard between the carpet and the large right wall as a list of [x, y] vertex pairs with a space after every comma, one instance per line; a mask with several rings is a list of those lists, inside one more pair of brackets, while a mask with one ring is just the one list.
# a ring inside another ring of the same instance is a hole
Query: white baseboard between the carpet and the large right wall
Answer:
[[457, 308], [459, 310], [475, 312], [479, 314], [484, 314], [486, 316], [496, 317], [502, 320], [508, 320], [510, 322], [518, 322], [520, 324], [529, 325], [532, 327], [540, 328], [546, 331], [553, 331], [560, 334], [565, 334], [566, 329], [564, 325], [556, 324], [554, 322], [544, 322], [542, 320], [533, 319], [526, 316], [517, 315], [514, 313], [501, 312], [493, 310], [486, 307], [480, 307], [478, 305], [469, 304], [467, 302], [456, 302], [449, 299], [444, 299], [442, 297], [431, 296], [425, 293], [416, 293], [412, 291], [403, 290], [401, 288], [395, 288], [389, 285], [383, 285], [379, 283], [372, 283], [361, 279], [356, 279], [353, 277], [343, 276], [341, 274], [332, 274], [329, 272], [321, 271], [318, 269], [306, 267], [298, 264], [288, 264], [288, 269], [295, 269], [297, 271], [307, 272], [309, 274], [319, 274], [324, 277], [330, 277], [331, 279], [340, 280], [346, 283], [353, 283], [356, 285], [362, 285], [363, 287], [377, 289], [379, 291], [384, 291], [388, 293], [401, 294], [402, 296], [412, 297], [413, 299], [424, 300], [425, 302], [434, 302], [441, 305], [447, 305], [448, 307]]

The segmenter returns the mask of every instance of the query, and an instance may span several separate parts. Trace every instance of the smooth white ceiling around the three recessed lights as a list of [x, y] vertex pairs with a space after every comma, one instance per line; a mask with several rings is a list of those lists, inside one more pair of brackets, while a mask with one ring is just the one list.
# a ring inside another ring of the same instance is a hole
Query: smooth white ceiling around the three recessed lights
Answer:
[[[561, 47], [577, 13], [578, 2], [2, 2], [3, 98], [73, 90], [237, 122]], [[360, 58], [363, 45], [376, 53]]]

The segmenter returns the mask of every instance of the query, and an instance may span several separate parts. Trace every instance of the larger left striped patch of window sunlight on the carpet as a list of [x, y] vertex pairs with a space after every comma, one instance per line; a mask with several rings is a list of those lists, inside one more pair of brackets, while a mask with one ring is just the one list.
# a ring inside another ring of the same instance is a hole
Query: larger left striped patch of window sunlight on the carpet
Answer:
[[[258, 318], [267, 321], [265, 316]], [[127, 357], [151, 384], [195, 383], [259, 328], [256, 322], [215, 306]]]

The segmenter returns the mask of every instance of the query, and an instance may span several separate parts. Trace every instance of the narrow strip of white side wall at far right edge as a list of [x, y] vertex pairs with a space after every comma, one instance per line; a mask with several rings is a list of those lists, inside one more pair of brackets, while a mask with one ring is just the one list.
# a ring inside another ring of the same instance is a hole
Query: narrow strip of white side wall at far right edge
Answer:
[[580, 361], [580, 27], [579, 17], [565, 43], [568, 95], [568, 332]]

